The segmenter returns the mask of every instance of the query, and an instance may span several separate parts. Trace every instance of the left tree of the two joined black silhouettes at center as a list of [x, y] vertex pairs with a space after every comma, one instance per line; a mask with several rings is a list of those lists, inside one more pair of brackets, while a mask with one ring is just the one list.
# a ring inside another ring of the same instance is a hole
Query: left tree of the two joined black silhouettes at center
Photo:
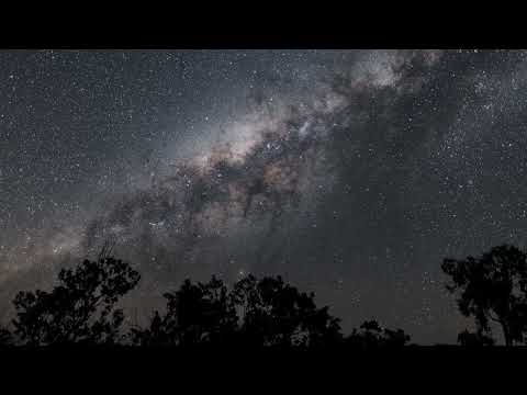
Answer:
[[142, 346], [226, 346], [234, 340], [237, 315], [224, 283], [212, 276], [164, 295], [167, 312], [155, 312], [147, 329], [132, 329], [133, 342]]

